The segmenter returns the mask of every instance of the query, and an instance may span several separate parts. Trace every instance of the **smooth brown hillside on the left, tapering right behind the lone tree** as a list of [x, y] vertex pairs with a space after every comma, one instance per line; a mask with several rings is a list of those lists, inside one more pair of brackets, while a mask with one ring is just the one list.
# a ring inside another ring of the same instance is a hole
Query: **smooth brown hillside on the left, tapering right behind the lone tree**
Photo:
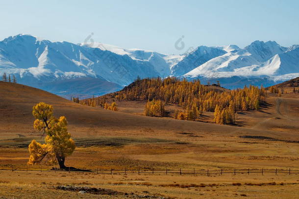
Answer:
[[19, 138], [18, 134], [25, 137], [37, 136], [32, 126], [32, 107], [39, 102], [53, 105], [56, 117], [65, 115], [69, 123], [68, 130], [75, 138], [129, 135], [136, 137], [141, 131], [165, 135], [169, 132], [204, 132], [213, 129], [222, 132], [223, 129], [232, 128], [223, 126], [220, 129], [213, 124], [145, 117], [82, 106], [44, 90], [2, 81], [0, 99], [1, 139]]

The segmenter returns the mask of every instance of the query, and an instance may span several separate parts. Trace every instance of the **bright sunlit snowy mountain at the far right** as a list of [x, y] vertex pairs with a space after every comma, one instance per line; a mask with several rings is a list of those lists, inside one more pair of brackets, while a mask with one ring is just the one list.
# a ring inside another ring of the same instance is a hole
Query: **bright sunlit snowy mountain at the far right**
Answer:
[[286, 74], [292, 78], [298, 76], [298, 52], [296, 46], [285, 48], [274, 41], [254, 41], [245, 49], [236, 49], [212, 58], [183, 76], [205, 79], [267, 76], [279, 81], [279, 77], [285, 77]]

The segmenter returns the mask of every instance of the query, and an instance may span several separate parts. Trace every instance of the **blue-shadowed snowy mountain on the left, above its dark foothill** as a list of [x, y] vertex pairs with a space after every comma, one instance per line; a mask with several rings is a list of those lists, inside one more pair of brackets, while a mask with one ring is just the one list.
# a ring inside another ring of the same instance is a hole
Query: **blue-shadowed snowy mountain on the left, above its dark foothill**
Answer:
[[68, 42], [38, 40], [30, 35], [4, 39], [0, 49], [1, 70], [18, 74], [22, 79], [30, 76], [51, 82], [93, 77], [127, 85], [138, 75], [141, 78], [160, 75], [149, 61]]

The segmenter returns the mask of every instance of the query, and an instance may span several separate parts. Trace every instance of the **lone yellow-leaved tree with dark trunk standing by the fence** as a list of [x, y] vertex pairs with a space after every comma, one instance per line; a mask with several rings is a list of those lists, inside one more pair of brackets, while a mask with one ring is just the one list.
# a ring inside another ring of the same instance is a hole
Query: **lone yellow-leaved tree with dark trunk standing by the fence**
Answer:
[[34, 129], [39, 130], [45, 137], [45, 144], [32, 140], [28, 149], [30, 153], [28, 165], [42, 162], [44, 159], [48, 165], [59, 164], [60, 169], [66, 169], [65, 158], [75, 150], [75, 142], [67, 131], [67, 119], [53, 116], [53, 107], [43, 102], [33, 107], [35, 121]]

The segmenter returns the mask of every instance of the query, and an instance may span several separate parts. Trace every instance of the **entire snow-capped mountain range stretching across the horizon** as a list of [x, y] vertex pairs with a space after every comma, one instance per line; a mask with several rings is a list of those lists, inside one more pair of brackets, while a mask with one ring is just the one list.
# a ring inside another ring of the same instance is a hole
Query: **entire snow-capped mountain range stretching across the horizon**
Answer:
[[275, 41], [199, 46], [182, 55], [125, 49], [101, 43], [50, 42], [19, 34], [0, 41], [0, 75], [63, 97], [89, 97], [122, 89], [138, 76], [176, 76], [226, 88], [269, 86], [299, 76], [299, 45]]

